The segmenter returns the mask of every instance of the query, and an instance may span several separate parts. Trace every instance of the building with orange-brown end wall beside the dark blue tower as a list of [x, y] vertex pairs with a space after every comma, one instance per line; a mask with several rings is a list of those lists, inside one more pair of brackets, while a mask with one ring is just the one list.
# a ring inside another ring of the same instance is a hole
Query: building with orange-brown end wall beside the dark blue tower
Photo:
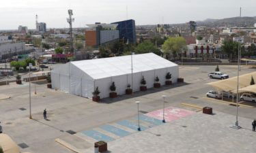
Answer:
[[98, 47], [119, 39], [117, 24], [106, 24], [96, 22], [96, 24], [87, 24], [89, 28], [85, 30], [86, 46]]

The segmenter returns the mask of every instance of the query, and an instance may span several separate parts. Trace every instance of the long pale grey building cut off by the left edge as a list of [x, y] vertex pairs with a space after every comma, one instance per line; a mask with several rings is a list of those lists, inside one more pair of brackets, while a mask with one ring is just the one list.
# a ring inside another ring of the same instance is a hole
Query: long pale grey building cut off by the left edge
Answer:
[[0, 59], [11, 58], [25, 52], [25, 43], [12, 40], [12, 36], [0, 36]]

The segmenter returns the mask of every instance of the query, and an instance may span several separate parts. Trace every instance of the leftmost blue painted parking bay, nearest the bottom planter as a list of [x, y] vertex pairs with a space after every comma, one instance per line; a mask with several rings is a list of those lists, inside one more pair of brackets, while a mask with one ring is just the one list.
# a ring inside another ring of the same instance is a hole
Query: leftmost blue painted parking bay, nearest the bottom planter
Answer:
[[92, 137], [93, 139], [96, 139], [97, 141], [113, 141], [115, 139], [113, 139], [112, 137], [109, 137], [107, 135], [104, 135], [102, 133], [99, 133], [98, 131], [94, 131], [94, 130], [89, 130], [89, 131], [83, 131], [81, 132], [84, 135], [87, 135], [88, 137]]

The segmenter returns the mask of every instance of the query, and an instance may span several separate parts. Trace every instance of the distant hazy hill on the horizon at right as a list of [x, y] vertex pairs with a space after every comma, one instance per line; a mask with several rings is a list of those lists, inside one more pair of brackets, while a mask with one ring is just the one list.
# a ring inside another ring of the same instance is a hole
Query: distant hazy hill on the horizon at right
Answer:
[[256, 23], [255, 17], [233, 17], [233, 18], [223, 18], [223, 19], [211, 19], [208, 18], [203, 21], [197, 21], [197, 26], [205, 27], [239, 27], [241, 22], [241, 27], [253, 27]]

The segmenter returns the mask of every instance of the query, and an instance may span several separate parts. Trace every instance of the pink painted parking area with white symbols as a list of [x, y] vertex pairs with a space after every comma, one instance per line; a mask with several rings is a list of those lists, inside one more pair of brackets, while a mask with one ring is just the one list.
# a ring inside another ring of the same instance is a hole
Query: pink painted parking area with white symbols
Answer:
[[[159, 109], [157, 111], [154, 112], [150, 112], [145, 114], [145, 116], [149, 116], [151, 118], [156, 118], [158, 120], [162, 120], [163, 116], [162, 116], [162, 111], [163, 109]], [[180, 109], [177, 107], [167, 107], [165, 108], [165, 121], [167, 122], [171, 122], [172, 120], [177, 120], [180, 118], [184, 118], [186, 116], [190, 116], [192, 114], [195, 114], [195, 112], [186, 110], [186, 109]]]

